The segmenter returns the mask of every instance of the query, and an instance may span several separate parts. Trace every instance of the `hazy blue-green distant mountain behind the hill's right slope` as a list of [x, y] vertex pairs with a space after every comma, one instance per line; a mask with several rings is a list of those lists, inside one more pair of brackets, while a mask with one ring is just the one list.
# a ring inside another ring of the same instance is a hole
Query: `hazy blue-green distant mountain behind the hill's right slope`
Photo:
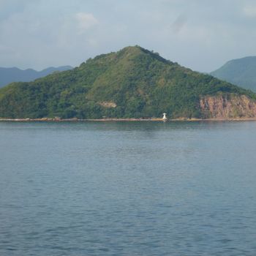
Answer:
[[227, 61], [211, 75], [256, 92], [256, 56]]

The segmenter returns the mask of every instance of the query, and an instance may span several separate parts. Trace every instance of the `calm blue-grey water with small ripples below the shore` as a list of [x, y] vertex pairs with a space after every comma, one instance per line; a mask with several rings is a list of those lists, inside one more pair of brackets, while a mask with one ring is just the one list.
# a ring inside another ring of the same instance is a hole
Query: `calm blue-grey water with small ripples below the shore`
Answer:
[[256, 122], [0, 123], [0, 255], [256, 255]]

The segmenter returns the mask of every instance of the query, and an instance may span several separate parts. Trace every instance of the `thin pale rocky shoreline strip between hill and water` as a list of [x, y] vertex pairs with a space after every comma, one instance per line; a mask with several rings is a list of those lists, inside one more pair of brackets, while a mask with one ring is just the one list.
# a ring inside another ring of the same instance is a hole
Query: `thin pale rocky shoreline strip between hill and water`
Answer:
[[10, 122], [84, 122], [84, 121], [256, 121], [254, 118], [174, 118], [163, 120], [162, 118], [0, 118], [0, 121]]

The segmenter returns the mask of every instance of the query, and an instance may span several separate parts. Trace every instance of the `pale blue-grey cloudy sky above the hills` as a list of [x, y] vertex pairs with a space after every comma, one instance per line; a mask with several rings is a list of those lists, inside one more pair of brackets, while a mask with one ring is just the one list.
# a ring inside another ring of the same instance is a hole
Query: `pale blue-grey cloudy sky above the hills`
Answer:
[[140, 45], [211, 72], [256, 56], [255, 28], [255, 0], [0, 0], [0, 67], [76, 67]]

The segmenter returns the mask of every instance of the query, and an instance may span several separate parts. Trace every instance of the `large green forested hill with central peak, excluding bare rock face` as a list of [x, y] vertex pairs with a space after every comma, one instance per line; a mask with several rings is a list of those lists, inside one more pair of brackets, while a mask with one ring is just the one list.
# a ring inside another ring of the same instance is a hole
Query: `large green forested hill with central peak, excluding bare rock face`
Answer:
[[244, 94], [211, 75], [167, 61], [158, 53], [127, 47], [102, 54], [75, 69], [0, 90], [0, 117], [102, 118], [203, 117], [203, 96]]

